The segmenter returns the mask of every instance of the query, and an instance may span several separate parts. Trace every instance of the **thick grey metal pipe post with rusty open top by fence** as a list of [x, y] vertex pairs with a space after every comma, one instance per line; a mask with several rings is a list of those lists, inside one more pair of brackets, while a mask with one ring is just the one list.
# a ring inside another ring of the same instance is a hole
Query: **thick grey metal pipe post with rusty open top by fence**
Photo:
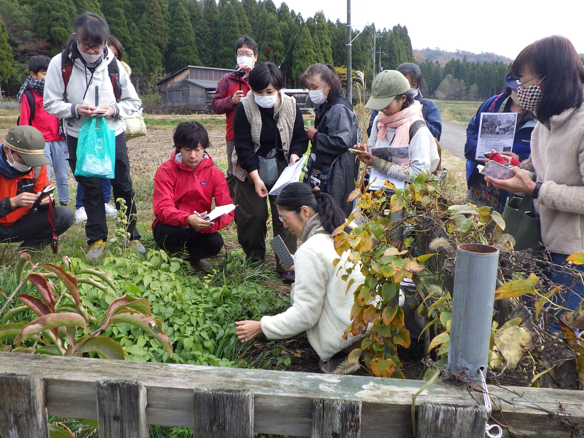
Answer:
[[489, 357], [498, 264], [499, 250], [493, 246], [458, 245], [448, 366], [474, 381]]

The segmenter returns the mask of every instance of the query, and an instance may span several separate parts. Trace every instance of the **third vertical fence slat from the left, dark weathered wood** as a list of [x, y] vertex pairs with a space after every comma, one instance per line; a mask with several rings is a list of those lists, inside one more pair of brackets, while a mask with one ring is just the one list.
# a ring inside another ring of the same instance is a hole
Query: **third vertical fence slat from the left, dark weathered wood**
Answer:
[[194, 438], [253, 438], [253, 394], [195, 388]]

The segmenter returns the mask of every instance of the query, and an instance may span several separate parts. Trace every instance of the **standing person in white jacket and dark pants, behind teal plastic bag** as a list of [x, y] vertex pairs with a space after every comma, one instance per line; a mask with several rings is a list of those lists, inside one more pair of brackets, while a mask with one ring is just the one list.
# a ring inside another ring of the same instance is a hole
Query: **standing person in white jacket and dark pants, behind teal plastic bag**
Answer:
[[[109, 26], [105, 20], [95, 13], [85, 12], [75, 20], [74, 29], [75, 33], [65, 49], [55, 55], [48, 66], [43, 107], [49, 114], [65, 119], [63, 124], [67, 130], [69, 165], [74, 175], [79, 130], [89, 117], [105, 117], [109, 128], [115, 131], [113, 195], [116, 204], [119, 198], [126, 202], [130, 246], [144, 254], [145, 249], [136, 230], [134, 189], [130, 179], [124, 135], [126, 125], [123, 119], [137, 111], [142, 102], [126, 70], [107, 50]], [[110, 63], [117, 65], [110, 66]], [[75, 179], [84, 189], [83, 203], [88, 217], [85, 225], [88, 257], [95, 261], [105, 250], [107, 239], [102, 179], [77, 175]]]

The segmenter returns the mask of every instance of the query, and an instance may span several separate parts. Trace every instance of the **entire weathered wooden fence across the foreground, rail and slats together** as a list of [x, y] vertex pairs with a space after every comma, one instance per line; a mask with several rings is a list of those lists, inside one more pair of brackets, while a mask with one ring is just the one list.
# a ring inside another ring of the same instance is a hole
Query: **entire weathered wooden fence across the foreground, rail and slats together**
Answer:
[[[412, 438], [412, 395], [424, 383], [0, 353], [0, 434], [47, 438], [48, 413], [98, 419], [100, 438], [146, 438], [147, 424], [189, 426], [205, 438]], [[489, 385], [489, 392], [493, 417], [516, 437], [563, 438], [584, 423], [579, 391]], [[478, 406], [482, 394], [435, 383], [417, 399], [429, 402]]]

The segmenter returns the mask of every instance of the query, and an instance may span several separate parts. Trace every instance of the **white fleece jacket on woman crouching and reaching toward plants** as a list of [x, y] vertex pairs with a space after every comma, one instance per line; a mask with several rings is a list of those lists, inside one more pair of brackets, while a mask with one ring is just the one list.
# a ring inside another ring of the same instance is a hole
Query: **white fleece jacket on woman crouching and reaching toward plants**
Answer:
[[294, 304], [279, 315], [263, 317], [261, 324], [268, 339], [288, 338], [306, 331], [308, 342], [318, 356], [328, 360], [364, 336], [349, 333], [347, 340], [343, 339], [351, 322], [353, 292], [363, 283], [364, 277], [358, 269], [353, 270], [347, 281], [353, 279], [354, 283], [346, 291], [347, 281], [340, 278], [344, 270], [337, 271], [339, 266], [345, 266], [343, 263], [352, 265], [346, 262], [349, 252], [343, 254], [340, 265], [334, 267], [332, 262], [339, 256], [333, 238], [329, 234], [315, 234], [321, 230], [324, 228], [318, 215], [311, 217], [304, 226], [303, 244], [294, 256]]

